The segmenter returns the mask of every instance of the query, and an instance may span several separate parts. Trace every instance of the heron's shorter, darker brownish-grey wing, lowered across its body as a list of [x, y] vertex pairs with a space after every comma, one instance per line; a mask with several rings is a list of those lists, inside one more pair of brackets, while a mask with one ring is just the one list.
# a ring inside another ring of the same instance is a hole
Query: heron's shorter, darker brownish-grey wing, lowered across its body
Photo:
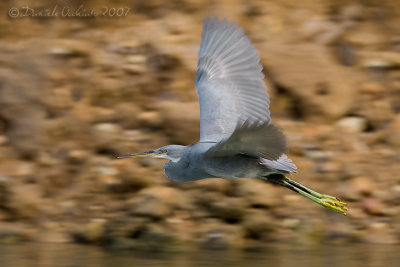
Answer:
[[226, 157], [245, 154], [269, 161], [278, 160], [287, 151], [283, 133], [273, 124], [249, 124], [238, 126], [232, 135], [212, 146], [207, 157]]

